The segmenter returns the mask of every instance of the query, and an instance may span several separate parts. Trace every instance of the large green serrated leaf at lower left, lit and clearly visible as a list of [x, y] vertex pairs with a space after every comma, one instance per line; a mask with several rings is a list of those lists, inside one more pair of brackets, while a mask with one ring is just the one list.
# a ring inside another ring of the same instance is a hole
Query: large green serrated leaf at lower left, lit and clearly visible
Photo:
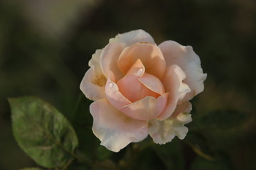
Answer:
[[47, 168], [64, 166], [78, 146], [68, 120], [39, 98], [9, 98], [14, 137], [36, 163]]

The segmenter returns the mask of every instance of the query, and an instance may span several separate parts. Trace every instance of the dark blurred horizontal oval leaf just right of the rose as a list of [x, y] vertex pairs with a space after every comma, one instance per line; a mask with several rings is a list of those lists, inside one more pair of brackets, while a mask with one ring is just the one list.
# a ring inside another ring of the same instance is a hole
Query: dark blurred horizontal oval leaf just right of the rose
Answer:
[[196, 121], [201, 128], [228, 129], [237, 128], [239, 125], [242, 125], [242, 123], [245, 123], [248, 117], [249, 116], [246, 113], [233, 110], [225, 110], [206, 113]]

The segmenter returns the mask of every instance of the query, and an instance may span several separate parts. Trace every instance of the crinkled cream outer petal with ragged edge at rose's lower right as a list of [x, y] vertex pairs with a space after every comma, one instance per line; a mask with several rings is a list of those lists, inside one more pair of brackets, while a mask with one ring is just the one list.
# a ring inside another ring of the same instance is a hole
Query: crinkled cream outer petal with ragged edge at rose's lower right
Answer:
[[176, 114], [171, 115], [171, 118], [164, 121], [150, 120], [149, 135], [153, 141], [158, 144], [165, 144], [171, 142], [175, 136], [183, 140], [188, 132], [188, 128], [184, 124], [190, 123], [192, 120], [188, 111], [191, 111], [191, 104], [184, 102], [178, 106]]

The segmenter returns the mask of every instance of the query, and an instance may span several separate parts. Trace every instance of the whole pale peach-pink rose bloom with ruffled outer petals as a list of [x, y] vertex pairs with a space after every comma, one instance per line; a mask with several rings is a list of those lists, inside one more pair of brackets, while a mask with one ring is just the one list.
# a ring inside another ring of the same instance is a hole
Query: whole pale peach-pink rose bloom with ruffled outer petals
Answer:
[[191, 122], [189, 100], [203, 91], [201, 61], [191, 46], [156, 45], [144, 30], [111, 38], [96, 50], [80, 89], [92, 101], [92, 131], [101, 145], [119, 152], [150, 135], [165, 144], [183, 140]]

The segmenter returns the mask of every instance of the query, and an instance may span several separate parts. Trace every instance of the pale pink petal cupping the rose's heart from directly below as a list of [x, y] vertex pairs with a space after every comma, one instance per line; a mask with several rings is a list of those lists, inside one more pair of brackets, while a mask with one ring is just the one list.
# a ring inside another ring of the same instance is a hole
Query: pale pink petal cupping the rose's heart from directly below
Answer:
[[167, 98], [168, 93], [160, 96], [159, 98], [147, 96], [142, 100], [120, 108], [120, 111], [136, 120], [151, 120], [164, 111]]

